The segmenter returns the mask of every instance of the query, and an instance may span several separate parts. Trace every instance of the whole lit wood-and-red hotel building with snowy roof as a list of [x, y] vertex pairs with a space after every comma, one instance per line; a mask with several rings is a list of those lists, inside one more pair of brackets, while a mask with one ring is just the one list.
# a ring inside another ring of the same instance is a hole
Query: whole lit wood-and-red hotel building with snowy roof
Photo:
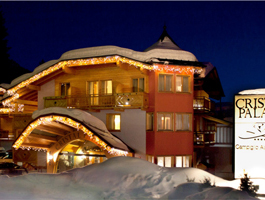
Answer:
[[144, 52], [69, 51], [2, 88], [2, 139], [14, 161], [52, 173], [120, 155], [197, 167], [217, 124], [229, 125], [211, 114], [210, 98], [223, 96], [216, 69], [165, 28]]

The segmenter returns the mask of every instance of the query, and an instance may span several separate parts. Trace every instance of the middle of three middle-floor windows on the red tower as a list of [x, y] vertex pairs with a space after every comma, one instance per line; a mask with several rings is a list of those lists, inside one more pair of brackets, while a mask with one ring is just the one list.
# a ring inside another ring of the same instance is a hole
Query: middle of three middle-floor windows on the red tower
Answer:
[[157, 113], [158, 131], [173, 131], [173, 114]]

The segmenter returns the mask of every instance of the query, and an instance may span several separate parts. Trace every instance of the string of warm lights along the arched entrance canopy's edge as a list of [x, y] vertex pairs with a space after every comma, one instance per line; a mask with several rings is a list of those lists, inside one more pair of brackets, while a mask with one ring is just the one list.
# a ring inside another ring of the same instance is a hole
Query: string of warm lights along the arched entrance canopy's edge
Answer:
[[[15, 149], [18, 149], [24, 142], [24, 140], [30, 135], [30, 133], [39, 125], [41, 124], [47, 124], [50, 122], [61, 122], [63, 124], [66, 124], [68, 126], [71, 126], [73, 128], [76, 128], [77, 130], [82, 130], [84, 132], [84, 134], [87, 134], [87, 136], [90, 138], [90, 140], [95, 143], [96, 145], [98, 145], [99, 147], [101, 147], [103, 150], [108, 151], [108, 153], [112, 154], [112, 155], [124, 155], [126, 156], [128, 154], [128, 152], [126, 151], [122, 151], [122, 150], [118, 150], [118, 149], [114, 149], [111, 148], [110, 146], [108, 146], [104, 141], [102, 141], [99, 137], [97, 137], [96, 135], [94, 135], [90, 130], [88, 130], [85, 126], [83, 126], [82, 124], [67, 118], [67, 117], [62, 117], [62, 116], [47, 116], [47, 117], [41, 117], [35, 121], [33, 121], [25, 130], [24, 132], [21, 134], [21, 136], [17, 139], [17, 141], [15, 142], [15, 144], [13, 145], [13, 147]], [[26, 147], [27, 149], [28, 147]], [[45, 148], [44, 148], [45, 149]]]

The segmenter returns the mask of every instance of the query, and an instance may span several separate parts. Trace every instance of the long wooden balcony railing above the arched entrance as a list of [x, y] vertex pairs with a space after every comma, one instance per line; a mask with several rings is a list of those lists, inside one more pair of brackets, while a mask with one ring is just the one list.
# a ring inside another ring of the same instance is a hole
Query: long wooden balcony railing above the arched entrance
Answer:
[[147, 108], [148, 94], [143, 92], [113, 95], [76, 95], [44, 97], [44, 107], [79, 109]]

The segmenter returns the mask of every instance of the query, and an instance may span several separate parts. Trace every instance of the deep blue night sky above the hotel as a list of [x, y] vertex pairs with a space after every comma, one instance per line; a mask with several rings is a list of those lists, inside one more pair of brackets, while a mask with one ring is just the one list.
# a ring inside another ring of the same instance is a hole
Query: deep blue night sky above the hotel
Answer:
[[[167, 32], [218, 71], [226, 97], [265, 88], [265, 2], [0, 2], [10, 58], [31, 71], [69, 50], [143, 51]], [[3, 66], [1, 66], [3, 68]]]

